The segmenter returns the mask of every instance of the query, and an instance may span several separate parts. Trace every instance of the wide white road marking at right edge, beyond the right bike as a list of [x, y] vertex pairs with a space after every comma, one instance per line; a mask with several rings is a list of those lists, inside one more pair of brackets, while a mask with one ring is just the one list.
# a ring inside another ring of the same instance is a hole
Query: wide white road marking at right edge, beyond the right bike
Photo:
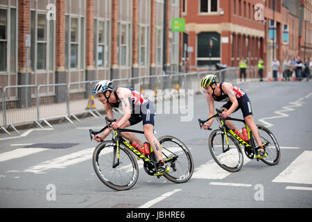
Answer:
[[291, 182], [312, 185], [312, 151], [304, 151], [272, 182]]

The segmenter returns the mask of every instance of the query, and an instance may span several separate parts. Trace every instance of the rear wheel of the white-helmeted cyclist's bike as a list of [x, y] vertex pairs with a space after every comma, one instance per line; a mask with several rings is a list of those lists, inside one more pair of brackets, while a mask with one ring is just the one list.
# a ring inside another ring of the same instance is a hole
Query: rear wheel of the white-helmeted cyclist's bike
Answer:
[[171, 182], [187, 182], [194, 171], [194, 162], [191, 153], [180, 139], [171, 136], [163, 136], [158, 139], [162, 146], [164, 162], [170, 167], [164, 177]]

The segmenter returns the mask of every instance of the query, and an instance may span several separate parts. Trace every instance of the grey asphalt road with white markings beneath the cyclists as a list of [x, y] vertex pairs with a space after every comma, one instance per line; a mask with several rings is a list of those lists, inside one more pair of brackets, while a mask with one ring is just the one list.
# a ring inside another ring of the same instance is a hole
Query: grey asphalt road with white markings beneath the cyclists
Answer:
[[[244, 166], [236, 173], [218, 167], [208, 149], [211, 131], [198, 126], [197, 119], [208, 116], [205, 95], [178, 103], [164, 101], [162, 107], [158, 103], [157, 137], [181, 139], [193, 156], [194, 173], [184, 184], [148, 176], [140, 168], [132, 189], [106, 187], [94, 173], [91, 160], [97, 143], [90, 142], [88, 133], [89, 128], [104, 126], [101, 117], [1, 135], [0, 207], [311, 208], [311, 86], [311, 82], [239, 83], [252, 103], [254, 121], [277, 137], [281, 160], [270, 167], [244, 157]], [[232, 117], [242, 114], [238, 111]], [[141, 129], [141, 123], [132, 128]], [[212, 128], [218, 128], [216, 121]], [[145, 141], [143, 135], [138, 137]]]

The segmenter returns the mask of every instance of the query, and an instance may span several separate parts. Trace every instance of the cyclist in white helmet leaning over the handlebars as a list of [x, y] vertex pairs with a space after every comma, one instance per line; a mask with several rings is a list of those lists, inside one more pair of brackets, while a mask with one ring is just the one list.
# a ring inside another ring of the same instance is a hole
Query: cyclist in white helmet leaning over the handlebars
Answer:
[[[103, 103], [109, 119], [114, 119], [112, 108], [118, 108], [121, 103], [123, 107], [123, 117], [112, 123], [111, 126], [114, 130], [116, 130], [116, 128], [126, 128], [143, 121], [144, 136], [148, 140], [150, 146], [152, 146], [155, 157], [159, 161], [157, 163], [157, 172], [154, 175], [161, 176], [170, 171], [170, 168], [164, 163], [159, 141], [153, 133], [155, 125], [155, 108], [153, 103], [135, 89], [119, 87], [114, 90], [112, 81], [110, 80], [102, 80], [94, 85], [93, 93], [96, 94], [98, 101]], [[94, 139], [96, 142], [100, 142], [109, 134], [110, 130], [107, 129], [102, 135], [96, 135]], [[135, 137], [133, 133], [123, 132], [122, 135], [126, 139], [136, 142], [140, 147], [144, 146], [143, 142]]]

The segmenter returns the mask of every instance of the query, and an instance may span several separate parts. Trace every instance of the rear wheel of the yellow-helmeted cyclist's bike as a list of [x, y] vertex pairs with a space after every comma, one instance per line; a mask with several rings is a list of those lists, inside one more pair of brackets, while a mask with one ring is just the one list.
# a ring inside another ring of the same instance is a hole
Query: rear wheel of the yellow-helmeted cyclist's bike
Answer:
[[[269, 140], [269, 137], [270, 137], [271, 144], [272, 143], [274, 144], [274, 147], [272, 147], [272, 146], [266, 147], [266, 153], [268, 153], [268, 156], [266, 158], [261, 159], [261, 161], [268, 164], [269, 166], [274, 166], [274, 165], [278, 164], [278, 162], [281, 158], [281, 150], [279, 148], [279, 144], [277, 142], [277, 139], [275, 138], [275, 135], [273, 135], [273, 133], [268, 128], [266, 128], [266, 126], [262, 126], [259, 124], [257, 124], [256, 126], [259, 130], [259, 134], [261, 136], [262, 142], [267, 142]], [[257, 147], [256, 146], [257, 142], [255, 141], [253, 135], [252, 135], [252, 139], [250, 141], [250, 144], [253, 147]], [[276, 157], [274, 157], [273, 154], [276, 155]], [[269, 159], [271, 156], [273, 156], [272, 160]]]

